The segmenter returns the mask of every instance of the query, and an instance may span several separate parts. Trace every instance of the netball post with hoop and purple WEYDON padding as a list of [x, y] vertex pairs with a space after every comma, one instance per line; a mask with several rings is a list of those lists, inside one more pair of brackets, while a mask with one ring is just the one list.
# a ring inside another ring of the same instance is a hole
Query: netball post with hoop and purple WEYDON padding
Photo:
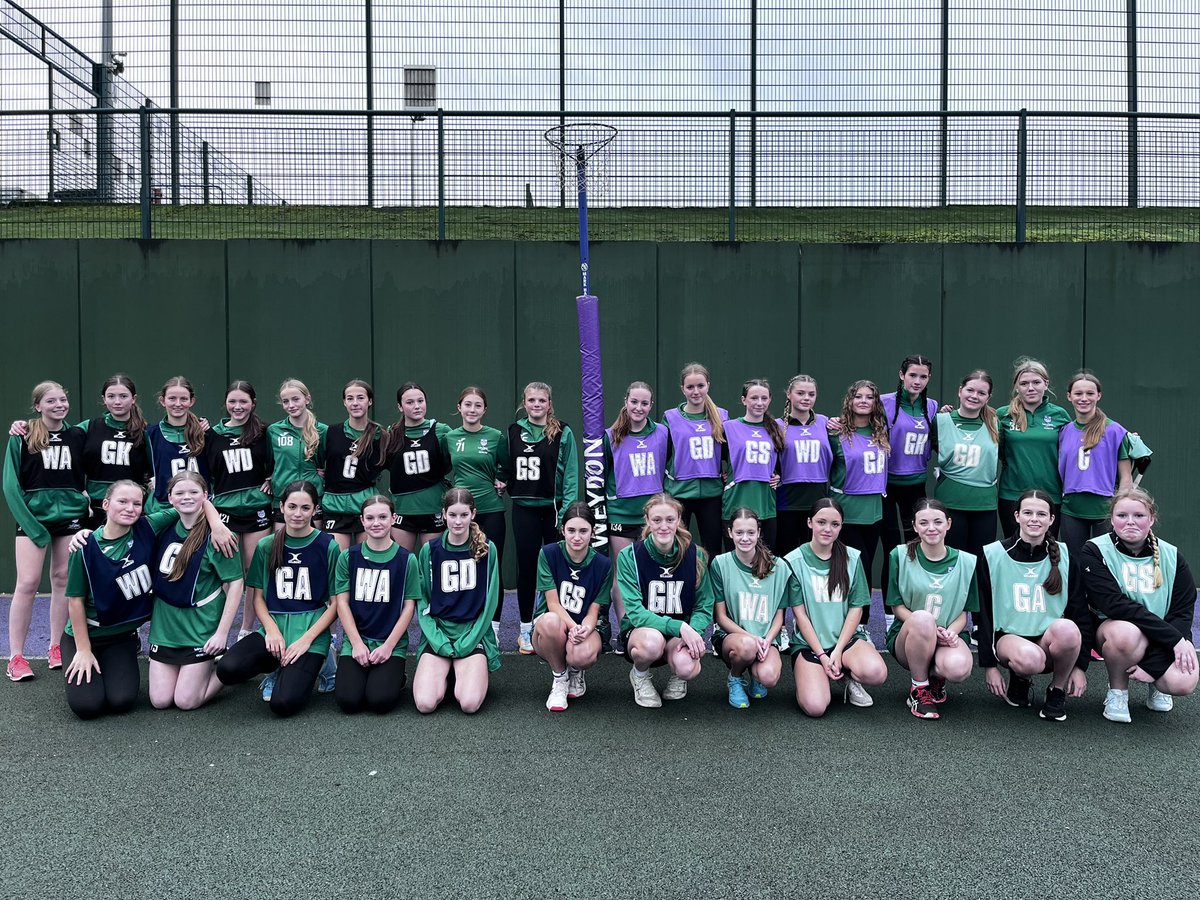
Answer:
[[604, 548], [608, 542], [608, 515], [605, 506], [604, 472], [604, 379], [600, 367], [600, 301], [592, 293], [588, 263], [588, 178], [602, 172], [617, 130], [600, 122], [556, 125], [545, 132], [546, 142], [554, 148], [559, 178], [575, 168], [575, 186], [580, 206], [580, 282], [582, 292], [575, 298], [580, 322], [580, 376], [583, 392], [583, 473], [588, 505], [596, 520], [593, 545]]

